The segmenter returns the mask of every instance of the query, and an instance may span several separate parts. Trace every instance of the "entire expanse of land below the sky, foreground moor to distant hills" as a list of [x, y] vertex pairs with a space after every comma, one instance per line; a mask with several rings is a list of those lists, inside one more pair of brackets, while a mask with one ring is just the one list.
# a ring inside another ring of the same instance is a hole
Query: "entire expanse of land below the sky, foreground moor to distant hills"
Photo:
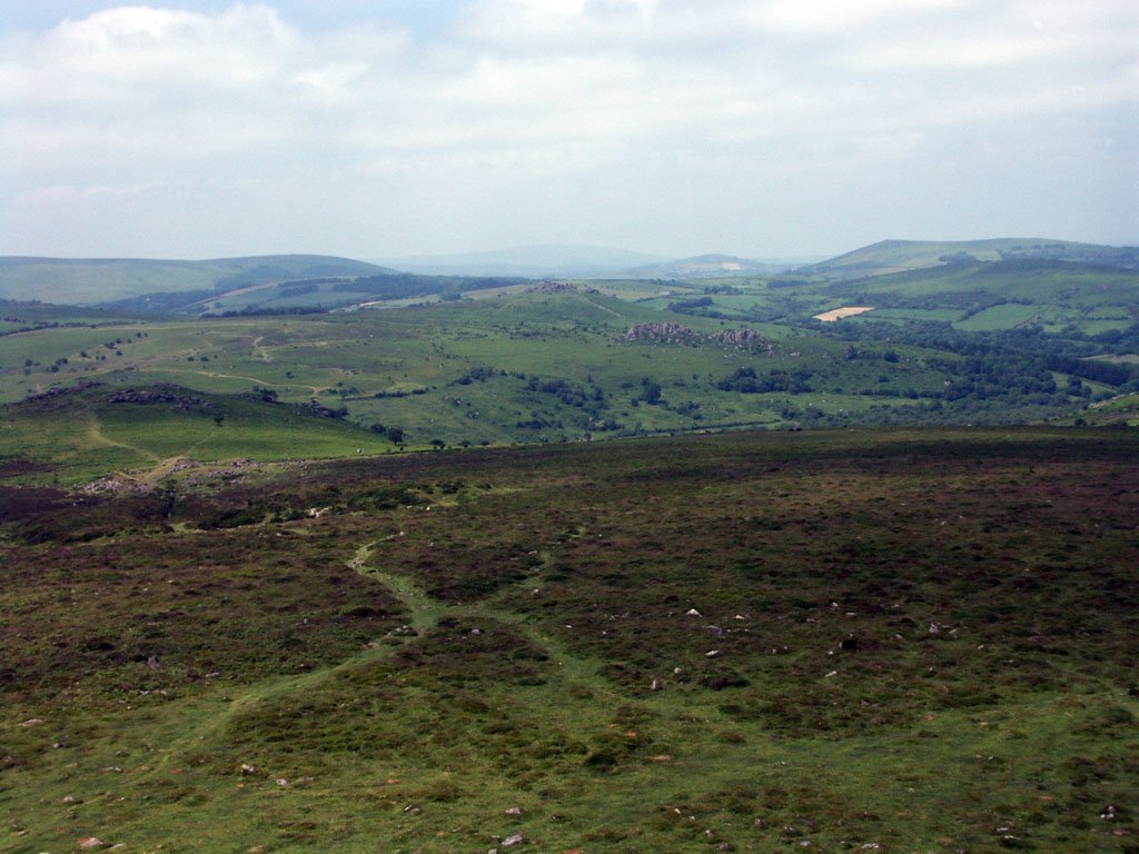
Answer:
[[724, 258], [6, 260], [0, 849], [1136, 851], [1136, 252]]

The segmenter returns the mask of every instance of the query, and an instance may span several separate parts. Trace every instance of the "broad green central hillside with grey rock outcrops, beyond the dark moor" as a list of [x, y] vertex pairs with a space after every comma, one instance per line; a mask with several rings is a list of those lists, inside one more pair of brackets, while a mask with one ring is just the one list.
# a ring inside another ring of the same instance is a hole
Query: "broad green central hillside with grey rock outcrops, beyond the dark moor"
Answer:
[[[771, 336], [770, 352], [624, 340], [636, 323], [674, 319], [579, 293], [339, 315], [44, 329], [0, 337], [0, 400], [18, 401], [80, 379], [175, 383], [229, 394], [259, 385], [282, 401], [316, 396], [333, 408], [343, 403], [357, 424], [402, 426], [413, 443], [426, 445], [433, 438], [478, 444], [776, 426], [794, 418], [784, 414], [792, 405], [857, 410], [883, 400], [859, 391], [928, 393], [943, 380], [925, 367], [932, 354], [920, 348], [901, 348], [896, 363], [880, 359], [885, 345], [851, 360], [843, 343], [778, 327], [754, 326]], [[726, 328], [713, 319], [681, 320], [703, 334]], [[57, 364], [62, 359], [67, 362]], [[25, 367], [27, 360], [32, 367]], [[716, 388], [720, 379], [749, 366], [761, 373], [812, 370], [820, 379], [813, 394], [795, 401], [786, 393]], [[486, 368], [493, 373], [462, 381]], [[603, 405], [590, 411], [568, 403], [533, 387], [532, 377], [565, 380], [590, 400], [600, 392]], [[638, 400], [645, 377], [662, 386], [663, 405]], [[850, 391], [835, 394], [835, 387]]]

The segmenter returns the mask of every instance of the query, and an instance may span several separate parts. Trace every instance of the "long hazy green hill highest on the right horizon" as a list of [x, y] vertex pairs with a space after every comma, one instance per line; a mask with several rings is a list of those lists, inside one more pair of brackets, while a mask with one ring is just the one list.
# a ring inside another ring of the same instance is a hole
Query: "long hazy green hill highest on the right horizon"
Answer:
[[976, 261], [1070, 261], [1139, 269], [1139, 247], [1100, 246], [1068, 240], [999, 238], [992, 240], [883, 240], [797, 272], [835, 281], [921, 270]]

